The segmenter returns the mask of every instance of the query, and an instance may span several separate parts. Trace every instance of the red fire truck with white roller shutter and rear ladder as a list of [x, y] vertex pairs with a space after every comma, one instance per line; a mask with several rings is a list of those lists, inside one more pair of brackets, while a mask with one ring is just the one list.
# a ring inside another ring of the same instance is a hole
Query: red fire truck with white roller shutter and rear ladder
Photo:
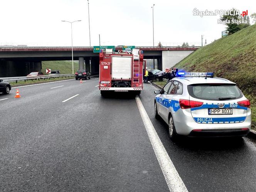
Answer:
[[129, 91], [140, 94], [143, 89], [143, 73], [146, 61], [139, 49], [100, 49], [99, 90], [101, 95], [111, 91]]

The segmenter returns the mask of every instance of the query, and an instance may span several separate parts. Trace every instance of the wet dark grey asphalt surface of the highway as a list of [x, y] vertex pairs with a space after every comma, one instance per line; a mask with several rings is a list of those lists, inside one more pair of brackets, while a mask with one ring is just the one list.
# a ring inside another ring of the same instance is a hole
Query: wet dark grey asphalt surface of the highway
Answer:
[[[170, 189], [135, 97], [103, 98], [97, 85], [92, 77], [20, 87], [21, 98], [15, 88], [0, 95], [0, 191]], [[144, 86], [141, 103], [188, 191], [256, 191], [255, 141], [173, 143], [154, 118], [157, 88]]]

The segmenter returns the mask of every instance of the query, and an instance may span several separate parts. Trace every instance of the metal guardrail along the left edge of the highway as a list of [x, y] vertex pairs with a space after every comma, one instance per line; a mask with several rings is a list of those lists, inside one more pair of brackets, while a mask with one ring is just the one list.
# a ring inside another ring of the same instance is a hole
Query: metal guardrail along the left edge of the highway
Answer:
[[6, 82], [13, 82], [16, 81], [16, 83], [18, 83], [18, 81], [27, 81], [27, 80], [34, 80], [37, 79], [38, 81], [40, 79], [50, 79], [50, 78], [55, 78], [55, 77], [74, 77], [75, 74], [60, 74], [60, 75], [42, 75], [42, 76], [33, 76], [33, 77], [27, 77], [27, 76], [23, 76], [23, 77], [3, 77], [0, 79], [3, 79], [3, 81]]

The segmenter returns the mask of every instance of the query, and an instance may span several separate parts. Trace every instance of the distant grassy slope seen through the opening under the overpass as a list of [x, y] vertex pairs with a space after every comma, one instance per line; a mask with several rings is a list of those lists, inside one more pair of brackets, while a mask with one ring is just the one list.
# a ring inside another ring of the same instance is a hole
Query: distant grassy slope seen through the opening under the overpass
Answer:
[[[42, 61], [42, 72], [45, 74], [45, 69], [52, 71], [59, 70], [61, 74], [72, 73], [72, 61]], [[74, 62], [74, 72], [78, 69], [78, 62]]]

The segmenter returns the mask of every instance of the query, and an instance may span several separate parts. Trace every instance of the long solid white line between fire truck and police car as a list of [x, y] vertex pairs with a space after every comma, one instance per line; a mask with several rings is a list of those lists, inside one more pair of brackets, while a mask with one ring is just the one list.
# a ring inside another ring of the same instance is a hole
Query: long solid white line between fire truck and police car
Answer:
[[176, 168], [174, 167], [168, 153], [163, 147], [163, 143], [158, 137], [157, 132], [155, 131], [155, 128], [152, 125], [150, 118], [148, 117], [148, 114], [140, 101], [140, 98], [136, 96], [135, 100], [138, 105], [142, 121], [147, 130], [148, 137], [154, 149], [155, 155], [157, 156], [158, 163], [162, 169], [163, 175], [165, 176], [165, 180], [167, 182], [169, 190], [175, 192], [187, 192], [188, 190], [182, 179], [180, 178]]

